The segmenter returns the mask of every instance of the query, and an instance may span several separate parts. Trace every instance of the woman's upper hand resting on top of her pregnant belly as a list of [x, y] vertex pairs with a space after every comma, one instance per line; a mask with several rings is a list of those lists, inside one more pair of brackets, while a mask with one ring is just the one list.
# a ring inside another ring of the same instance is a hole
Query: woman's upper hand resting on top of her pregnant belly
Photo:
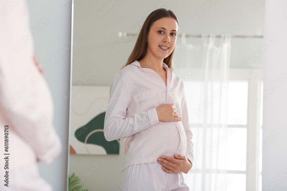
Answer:
[[181, 121], [177, 109], [172, 104], [162, 104], [156, 108], [159, 121]]

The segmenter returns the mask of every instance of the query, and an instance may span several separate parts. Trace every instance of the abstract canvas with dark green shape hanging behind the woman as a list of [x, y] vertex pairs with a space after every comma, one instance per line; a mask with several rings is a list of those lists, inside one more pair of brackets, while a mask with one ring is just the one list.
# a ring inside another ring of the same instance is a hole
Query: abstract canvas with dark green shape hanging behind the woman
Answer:
[[119, 140], [106, 141], [104, 118], [110, 86], [72, 86], [70, 154], [119, 154]]

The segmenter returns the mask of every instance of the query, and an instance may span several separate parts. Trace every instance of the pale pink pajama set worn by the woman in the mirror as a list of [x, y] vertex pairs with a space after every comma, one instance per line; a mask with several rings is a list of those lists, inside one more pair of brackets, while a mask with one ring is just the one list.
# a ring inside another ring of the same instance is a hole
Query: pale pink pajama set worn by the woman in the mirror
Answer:
[[[136, 178], [132, 183], [128, 181], [133, 186], [127, 186], [123, 190], [138, 186], [144, 186], [143, 190], [169, 190], [172, 182], [177, 184], [174, 187], [184, 187], [182, 173], [166, 173], [157, 163], [157, 158], [162, 155], [174, 157], [174, 154], [179, 154], [187, 157], [193, 164], [193, 134], [188, 119], [183, 80], [164, 62], [163, 66], [167, 71], [167, 85], [154, 70], [141, 68], [135, 60], [115, 74], [110, 87], [104, 136], [107, 141], [124, 139], [121, 186], [133, 174], [142, 177]], [[174, 104], [182, 121], [158, 120], [156, 108], [167, 103]], [[156, 182], [160, 187], [153, 184], [155, 180], [159, 181]]]

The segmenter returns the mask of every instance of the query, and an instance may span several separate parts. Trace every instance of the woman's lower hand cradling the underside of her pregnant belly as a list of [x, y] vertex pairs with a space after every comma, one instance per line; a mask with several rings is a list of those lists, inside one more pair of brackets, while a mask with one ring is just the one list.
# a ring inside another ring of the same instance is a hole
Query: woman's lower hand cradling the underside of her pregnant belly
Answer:
[[162, 169], [167, 173], [187, 172], [191, 169], [192, 164], [185, 156], [174, 155], [175, 158], [161, 156], [158, 163], [162, 165]]

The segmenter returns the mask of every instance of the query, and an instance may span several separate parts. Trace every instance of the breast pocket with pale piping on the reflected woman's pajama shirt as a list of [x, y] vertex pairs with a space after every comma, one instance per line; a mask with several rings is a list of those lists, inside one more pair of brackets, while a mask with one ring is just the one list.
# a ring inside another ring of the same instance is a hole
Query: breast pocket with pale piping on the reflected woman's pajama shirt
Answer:
[[159, 97], [155, 89], [135, 94], [133, 98], [137, 104], [137, 113], [159, 106]]

